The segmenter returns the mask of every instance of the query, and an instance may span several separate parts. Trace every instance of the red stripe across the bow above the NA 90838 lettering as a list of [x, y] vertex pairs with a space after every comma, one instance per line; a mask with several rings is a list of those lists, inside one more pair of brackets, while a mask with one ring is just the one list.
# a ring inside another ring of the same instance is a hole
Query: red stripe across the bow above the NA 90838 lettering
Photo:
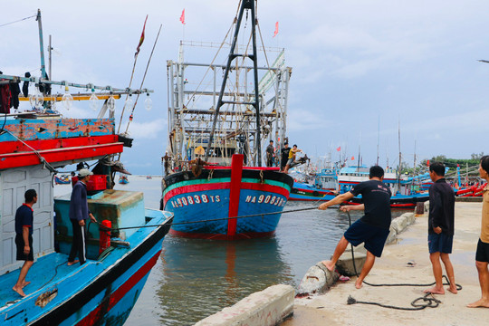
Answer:
[[[171, 197], [175, 197], [177, 195], [206, 191], [206, 190], [229, 189], [230, 186], [231, 186], [231, 182], [216, 182], [211, 184], [199, 184], [199, 185], [177, 187], [175, 189], [171, 189], [170, 191], [168, 191], [167, 194], [165, 194], [165, 197], [163, 198], [163, 205], [167, 205], [168, 200]], [[241, 189], [268, 191], [268, 192], [273, 192], [275, 194], [282, 195], [287, 199], [289, 198], [289, 191], [287, 189], [283, 187], [273, 186], [273, 185], [242, 182]]]

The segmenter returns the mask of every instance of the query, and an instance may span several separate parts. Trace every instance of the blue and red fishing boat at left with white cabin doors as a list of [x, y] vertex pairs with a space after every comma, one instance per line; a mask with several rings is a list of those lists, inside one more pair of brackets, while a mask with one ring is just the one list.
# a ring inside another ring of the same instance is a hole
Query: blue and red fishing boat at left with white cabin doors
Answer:
[[[40, 24], [40, 11], [37, 19]], [[4, 84], [24, 81], [106, 89], [92, 83], [50, 81], [44, 71], [41, 78], [1, 74], [0, 80]], [[158, 260], [172, 214], [145, 209], [140, 192], [107, 188], [112, 171], [103, 162], [120, 154], [124, 146], [115, 132], [113, 111], [109, 118], [63, 118], [49, 105], [52, 103], [46, 104], [55, 98], [61, 100], [61, 96], [40, 90], [37, 98], [42, 109], [0, 114], [4, 121], [0, 125], [0, 323], [122, 325]], [[107, 109], [107, 101], [103, 108]], [[53, 197], [52, 177], [57, 168], [91, 160], [99, 160], [99, 164], [94, 168], [96, 176], [92, 176], [97, 188], [89, 185], [88, 189], [89, 209], [100, 222], [103, 220], [103, 225], [111, 226], [100, 229], [99, 225], [89, 224], [87, 262], [68, 266], [72, 244], [70, 196]], [[34, 264], [27, 274], [30, 283], [24, 286], [26, 295], [22, 297], [12, 289], [22, 263], [15, 260], [14, 216], [27, 189], [35, 189], [38, 201], [33, 206]]]

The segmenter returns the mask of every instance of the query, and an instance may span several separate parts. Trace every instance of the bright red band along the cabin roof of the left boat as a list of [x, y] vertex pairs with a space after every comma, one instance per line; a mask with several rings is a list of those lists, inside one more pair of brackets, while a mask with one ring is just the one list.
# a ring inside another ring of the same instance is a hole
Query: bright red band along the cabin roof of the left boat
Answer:
[[[123, 151], [122, 143], [91, 145], [65, 149], [46, 149], [38, 151], [39, 155], [49, 163], [65, 162], [75, 159], [96, 158], [107, 154]], [[18, 168], [41, 164], [34, 152], [22, 152], [0, 155], [0, 169]]]

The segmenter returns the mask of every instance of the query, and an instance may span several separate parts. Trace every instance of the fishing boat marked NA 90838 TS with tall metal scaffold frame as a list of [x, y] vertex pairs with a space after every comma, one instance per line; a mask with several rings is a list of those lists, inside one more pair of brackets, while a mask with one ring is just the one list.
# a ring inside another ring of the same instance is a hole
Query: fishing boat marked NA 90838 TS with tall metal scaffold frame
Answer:
[[[248, 18], [251, 28], [240, 31]], [[255, 1], [243, 1], [230, 46], [197, 44], [229, 46], [225, 65], [185, 62], [184, 46], [191, 42], [181, 42], [178, 62], [167, 63], [169, 158], [160, 208], [175, 215], [172, 235], [225, 240], [273, 235], [289, 198], [292, 177], [263, 168], [262, 148], [271, 139], [280, 148], [285, 139], [292, 69], [284, 64], [283, 49], [271, 66], [258, 66], [257, 22]], [[240, 32], [249, 33], [244, 46], [237, 44]], [[212, 74], [189, 81], [199, 67]], [[203, 85], [208, 88], [199, 88]]]

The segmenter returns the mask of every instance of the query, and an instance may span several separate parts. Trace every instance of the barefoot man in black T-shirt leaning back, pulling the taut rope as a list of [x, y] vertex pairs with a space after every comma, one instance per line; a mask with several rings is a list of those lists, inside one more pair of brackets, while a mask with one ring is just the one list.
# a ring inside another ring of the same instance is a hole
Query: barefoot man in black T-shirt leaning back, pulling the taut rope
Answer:
[[364, 210], [365, 215], [353, 223], [341, 237], [331, 257], [331, 261], [322, 262], [332, 272], [340, 255], [344, 253], [348, 244], [351, 243], [351, 245], [357, 246], [365, 243], [367, 260], [361, 269], [359, 278], [355, 282], [357, 289], [360, 289], [363, 279], [370, 272], [370, 269], [375, 263], [375, 257], [380, 257], [382, 254], [389, 233], [391, 193], [388, 186], [382, 182], [383, 178], [384, 169], [379, 166], [373, 166], [370, 168], [369, 181], [361, 182], [349, 192], [334, 197], [319, 206], [319, 209], [326, 209], [329, 206], [341, 204], [358, 195], [361, 195], [363, 199], [362, 205], [341, 207], [343, 212]]

